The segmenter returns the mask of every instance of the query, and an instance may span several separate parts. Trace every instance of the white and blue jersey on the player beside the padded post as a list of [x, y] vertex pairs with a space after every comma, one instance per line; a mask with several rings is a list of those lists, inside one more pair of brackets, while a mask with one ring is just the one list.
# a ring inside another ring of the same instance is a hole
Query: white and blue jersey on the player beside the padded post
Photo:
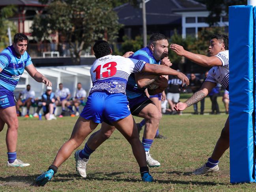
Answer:
[[208, 76], [205, 81], [219, 83], [226, 90], [229, 85], [229, 59], [228, 50], [221, 51], [215, 57], [219, 58], [222, 66], [214, 66], [209, 70]]

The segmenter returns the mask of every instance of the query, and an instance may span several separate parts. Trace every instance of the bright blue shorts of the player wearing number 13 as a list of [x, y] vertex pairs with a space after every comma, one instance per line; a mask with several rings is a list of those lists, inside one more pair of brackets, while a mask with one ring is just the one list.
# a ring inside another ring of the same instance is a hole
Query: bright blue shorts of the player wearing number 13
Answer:
[[111, 123], [131, 114], [126, 95], [94, 92], [87, 98], [80, 116], [95, 123]]

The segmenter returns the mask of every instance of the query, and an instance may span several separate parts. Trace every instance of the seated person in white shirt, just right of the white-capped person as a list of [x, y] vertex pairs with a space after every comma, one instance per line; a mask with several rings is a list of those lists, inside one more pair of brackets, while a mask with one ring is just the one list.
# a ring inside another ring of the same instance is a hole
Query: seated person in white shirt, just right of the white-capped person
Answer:
[[[59, 89], [56, 91], [56, 98], [55, 101], [56, 106], [62, 106], [62, 114], [65, 112], [65, 106], [74, 113], [72, 106], [70, 106], [69, 98], [70, 98], [70, 91], [68, 88], [64, 88], [63, 84], [59, 84]], [[60, 115], [62, 117], [63, 115]]]

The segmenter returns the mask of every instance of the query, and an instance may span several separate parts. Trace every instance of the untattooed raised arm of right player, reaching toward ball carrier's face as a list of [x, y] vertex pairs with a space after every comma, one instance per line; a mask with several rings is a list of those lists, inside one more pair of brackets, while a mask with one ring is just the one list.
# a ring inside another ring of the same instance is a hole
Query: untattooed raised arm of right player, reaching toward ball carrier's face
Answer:
[[222, 62], [215, 56], [207, 57], [205, 55], [195, 54], [185, 50], [181, 45], [171, 44], [170, 48], [179, 56], [184, 56], [194, 63], [204, 67], [222, 66]]

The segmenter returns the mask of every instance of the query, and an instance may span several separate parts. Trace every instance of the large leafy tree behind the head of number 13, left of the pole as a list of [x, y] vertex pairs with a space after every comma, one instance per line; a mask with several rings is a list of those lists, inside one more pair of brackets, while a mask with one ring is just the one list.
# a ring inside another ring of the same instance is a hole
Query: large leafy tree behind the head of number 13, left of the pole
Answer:
[[95, 40], [114, 41], [121, 27], [109, 0], [52, 0], [46, 11], [35, 17], [32, 35], [39, 40], [54, 32], [65, 36], [74, 64], [80, 64], [81, 51]]

